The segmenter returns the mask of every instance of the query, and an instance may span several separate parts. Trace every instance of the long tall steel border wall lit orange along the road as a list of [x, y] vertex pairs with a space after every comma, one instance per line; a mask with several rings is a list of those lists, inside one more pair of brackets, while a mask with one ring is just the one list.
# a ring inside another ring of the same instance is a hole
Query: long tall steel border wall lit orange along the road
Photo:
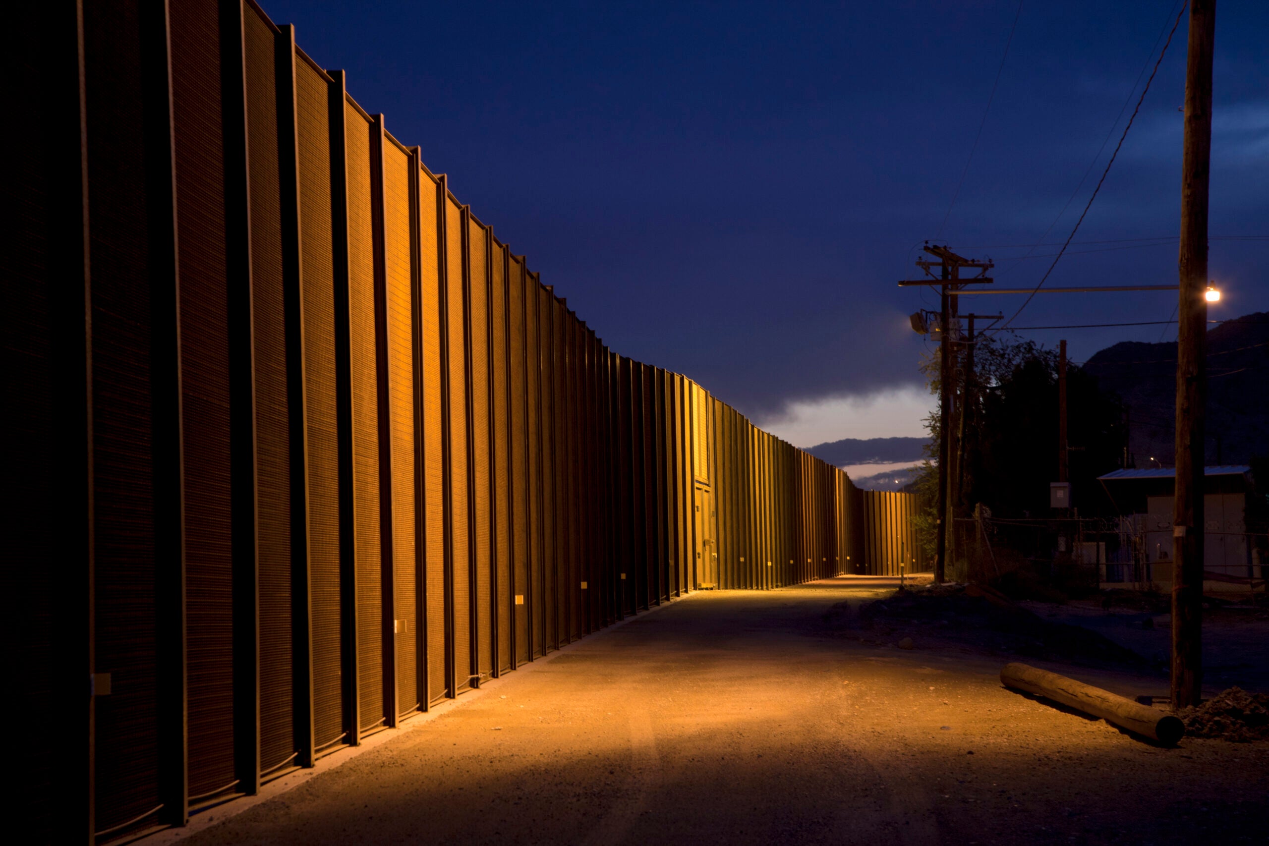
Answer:
[[914, 561], [912, 497], [609, 350], [250, 3], [14, 30], [32, 840], [184, 824], [693, 590]]

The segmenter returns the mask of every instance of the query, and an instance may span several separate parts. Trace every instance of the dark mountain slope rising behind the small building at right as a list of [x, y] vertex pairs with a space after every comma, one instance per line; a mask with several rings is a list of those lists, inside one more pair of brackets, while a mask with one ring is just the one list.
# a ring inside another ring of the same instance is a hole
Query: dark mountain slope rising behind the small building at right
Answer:
[[[1217, 323], [1207, 334], [1207, 462], [1244, 464], [1269, 453], [1269, 312]], [[1094, 354], [1084, 368], [1128, 408], [1128, 449], [1137, 467], [1154, 457], [1175, 463], [1176, 342], [1124, 341]]]

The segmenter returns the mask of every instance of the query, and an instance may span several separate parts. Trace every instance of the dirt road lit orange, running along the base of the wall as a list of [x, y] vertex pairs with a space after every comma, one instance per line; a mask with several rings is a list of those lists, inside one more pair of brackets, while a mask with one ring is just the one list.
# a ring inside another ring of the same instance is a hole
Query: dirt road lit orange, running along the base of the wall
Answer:
[[[831, 581], [695, 594], [510, 674], [222, 823], [166, 840], [1269, 840], [1266, 745], [1156, 748], [1004, 690], [999, 660], [825, 630], [830, 606], [877, 595]], [[1128, 695], [1157, 686], [1089, 680]]]

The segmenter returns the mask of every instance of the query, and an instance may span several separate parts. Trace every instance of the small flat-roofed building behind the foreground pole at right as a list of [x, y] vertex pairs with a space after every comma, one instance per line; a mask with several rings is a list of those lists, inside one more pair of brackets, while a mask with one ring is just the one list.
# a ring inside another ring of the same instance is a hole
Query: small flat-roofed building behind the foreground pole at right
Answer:
[[[1173, 501], [1176, 471], [1171, 467], [1123, 469], [1098, 481], [1119, 511], [1119, 561], [1101, 566], [1107, 586], [1171, 590]], [[1222, 464], [1204, 468], [1203, 590], [1261, 589], [1264, 544], [1247, 533], [1246, 510], [1254, 495], [1251, 468]]]

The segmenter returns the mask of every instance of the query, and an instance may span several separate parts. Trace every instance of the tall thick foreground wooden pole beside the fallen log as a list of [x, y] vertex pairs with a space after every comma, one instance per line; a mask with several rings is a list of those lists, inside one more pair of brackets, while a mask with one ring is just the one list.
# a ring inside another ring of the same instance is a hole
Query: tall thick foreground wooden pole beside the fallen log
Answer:
[[1216, 0], [1190, 0], [1181, 160], [1176, 340], [1176, 495], [1173, 507], [1173, 708], [1203, 690], [1203, 454], [1207, 411], [1207, 203], [1212, 153]]

